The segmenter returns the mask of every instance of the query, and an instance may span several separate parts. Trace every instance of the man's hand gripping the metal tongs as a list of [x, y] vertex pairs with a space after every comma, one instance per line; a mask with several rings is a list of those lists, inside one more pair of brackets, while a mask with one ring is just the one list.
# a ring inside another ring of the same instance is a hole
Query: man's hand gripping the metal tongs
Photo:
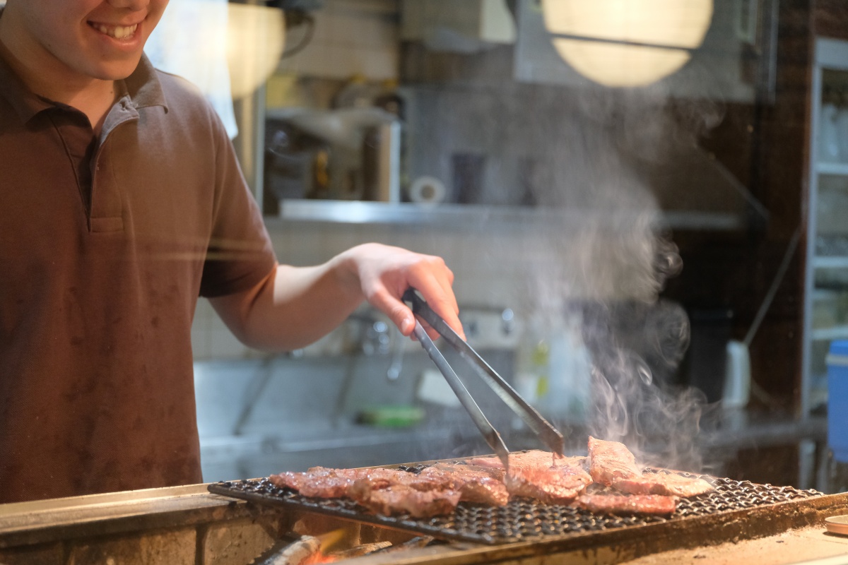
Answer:
[[[460, 308], [452, 289], [454, 274], [442, 258], [377, 243], [355, 246], [339, 258], [349, 269], [352, 277], [349, 284], [358, 284], [365, 300], [386, 313], [403, 335], [410, 335], [415, 327], [415, 317], [401, 299], [411, 286], [421, 292], [433, 311], [465, 338], [458, 317]], [[436, 330], [423, 320], [421, 325], [433, 339], [438, 337]]]

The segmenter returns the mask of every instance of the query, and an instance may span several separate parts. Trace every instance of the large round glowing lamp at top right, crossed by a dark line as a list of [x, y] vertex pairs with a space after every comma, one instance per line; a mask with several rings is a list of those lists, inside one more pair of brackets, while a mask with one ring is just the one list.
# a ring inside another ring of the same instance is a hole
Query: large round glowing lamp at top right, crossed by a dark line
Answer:
[[542, 0], [557, 53], [605, 86], [650, 85], [683, 67], [712, 9], [712, 0]]

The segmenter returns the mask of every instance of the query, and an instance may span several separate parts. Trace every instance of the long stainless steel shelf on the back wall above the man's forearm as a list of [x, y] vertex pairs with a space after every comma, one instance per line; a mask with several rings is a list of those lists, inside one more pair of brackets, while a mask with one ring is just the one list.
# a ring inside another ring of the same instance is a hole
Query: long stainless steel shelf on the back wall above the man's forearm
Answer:
[[[633, 220], [648, 212], [635, 211]], [[533, 208], [485, 206], [477, 204], [414, 204], [407, 202], [358, 202], [332, 200], [283, 200], [279, 219], [300, 222], [340, 224], [421, 224], [466, 226], [478, 229], [482, 223], [583, 225], [607, 222], [616, 226], [626, 219], [622, 213], [587, 208]], [[273, 222], [274, 218], [269, 218]], [[732, 213], [662, 212], [652, 218], [659, 227], [680, 230], [739, 230], [744, 219]]]

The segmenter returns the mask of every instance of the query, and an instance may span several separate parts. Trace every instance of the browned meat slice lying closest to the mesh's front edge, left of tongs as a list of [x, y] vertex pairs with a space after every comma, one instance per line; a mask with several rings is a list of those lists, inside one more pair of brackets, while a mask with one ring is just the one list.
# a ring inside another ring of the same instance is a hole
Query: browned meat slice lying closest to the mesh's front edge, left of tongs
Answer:
[[460, 501], [459, 490], [416, 490], [410, 485], [372, 489], [363, 479], [354, 482], [349, 496], [371, 512], [385, 516], [409, 513], [415, 518], [449, 514]]

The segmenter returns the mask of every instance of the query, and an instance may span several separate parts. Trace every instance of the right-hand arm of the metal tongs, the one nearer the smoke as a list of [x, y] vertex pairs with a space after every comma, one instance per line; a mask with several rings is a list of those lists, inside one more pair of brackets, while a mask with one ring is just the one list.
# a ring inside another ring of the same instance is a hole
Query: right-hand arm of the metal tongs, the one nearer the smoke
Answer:
[[[565, 439], [562, 434], [553, 425], [544, 419], [535, 408], [530, 406], [503, 377], [501, 377], [494, 368], [491, 368], [483, 357], [474, 351], [466, 341], [464, 341], [451, 327], [445, 323], [437, 313], [433, 312], [432, 308], [424, 302], [421, 296], [414, 288], [409, 288], [404, 292], [404, 302], [409, 302], [412, 307], [412, 312], [421, 316], [427, 324], [436, 330], [450, 346], [454, 347], [461, 357], [464, 357], [477, 370], [486, 384], [497, 394], [510, 409], [522, 418], [525, 424], [533, 430], [533, 433], [538, 436], [542, 443], [554, 451], [557, 455], [563, 455], [565, 449]], [[421, 330], [423, 331], [423, 329]], [[416, 335], [417, 337], [417, 335]], [[420, 338], [419, 338], [420, 339]]]

